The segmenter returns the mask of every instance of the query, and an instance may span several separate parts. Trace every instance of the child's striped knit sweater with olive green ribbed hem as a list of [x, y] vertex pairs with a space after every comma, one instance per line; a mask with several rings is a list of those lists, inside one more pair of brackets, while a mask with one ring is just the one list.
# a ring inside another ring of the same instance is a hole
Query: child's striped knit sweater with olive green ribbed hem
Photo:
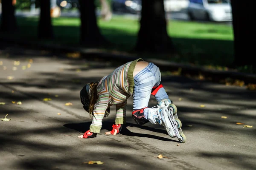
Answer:
[[116, 105], [115, 124], [126, 122], [126, 103], [133, 94], [133, 72], [138, 61], [143, 61], [143, 59], [127, 62], [99, 81], [97, 86], [99, 98], [94, 105], [93, 121], [90, 125], [91, 132], [100, 132], [105, 111], [112, 105]]

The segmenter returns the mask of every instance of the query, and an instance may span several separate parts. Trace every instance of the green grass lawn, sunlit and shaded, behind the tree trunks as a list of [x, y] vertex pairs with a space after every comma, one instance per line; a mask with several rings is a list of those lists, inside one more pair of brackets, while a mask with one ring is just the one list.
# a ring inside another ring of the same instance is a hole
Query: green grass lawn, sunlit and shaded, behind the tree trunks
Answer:
[[[17, 18], [19, 34], [0, 35], [19, 39], [37, 40], [38, 17]], [[130, 51], [136, 44], [140, 24], [138, 20], [113, 17], [111, 21], [99, 20], [102, 34], [116, 44], [111, 50]], [[79, 45], [79, 18], [54, 18], [55, 40], [47, 43]], [[170, 61], [193, 63], [195, 65], [226, 66], [233, 61], [232, 26], [218, 23], [197, 23], [189, 21], [170, 21], [168, 33], [180, 52], [176, 56], [151, 56], [167, 58]]]

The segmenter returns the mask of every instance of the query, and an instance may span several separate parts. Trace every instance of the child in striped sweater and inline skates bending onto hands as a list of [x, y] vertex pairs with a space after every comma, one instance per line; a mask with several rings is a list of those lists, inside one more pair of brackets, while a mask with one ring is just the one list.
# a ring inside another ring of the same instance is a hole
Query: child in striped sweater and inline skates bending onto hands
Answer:
[[[84, 110], [93, 116], [90, 129], [79, 138], [93, 138], [100, 132], [103, 117], [107, 117], [110, 106], [116, 105], [116, 120], [113, 129], [105, 134], [120, 133], [126, 122], [126, 102], [133, 96], [132, 117], [138, 125], [147, 122], [163, 125], [169, 136], [185, 142], [181, 122], [177, 118], [177, 108], [172, 104], [161, 82], [159, 68], [152, 62], [136, 59], [116, 68], [111, 74], [90, 82], [80, 93]], [[148, 108], [150, 95], [157, 101], [156, 108]]]

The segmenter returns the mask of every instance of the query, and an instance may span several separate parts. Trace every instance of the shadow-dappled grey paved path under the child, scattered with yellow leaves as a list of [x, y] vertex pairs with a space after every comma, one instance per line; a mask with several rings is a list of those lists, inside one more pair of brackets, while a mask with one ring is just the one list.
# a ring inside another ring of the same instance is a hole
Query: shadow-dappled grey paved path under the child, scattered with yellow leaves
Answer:
[[[14, 65], [14, 61], [20, 64]], [[30, 67], [25, 69], [28, 64]], [[111, 130], [114, 121], [111, 108], [97, 138], [77, 138], [91, 122], [81, 106], [80, 89], [85, 83], [111, 73], [115, 67], [111, 61], [71, 59], [47, 51], [2, 47], [0, 102], [6, 104], [0, 105], [0, 117], [8, 113], [11, 121], [0, 121], [1, 170], [255, 168], [256, 93], [245, 87], [163, 77], [163, 85], [177, 105], [183, 123], [187, 137], [184, 144], [170, 138], [160, 125], [137, 126], [131, 117], [131, 98], [127, 125], [121, 134], [104, 134]], [[52, 100], [43, 101], [44, 98]], [[12, 101], [21, 101], [22, 105]], [[67, 102], [73, 105], [65, 106]], [[151, 98], [149, 106], [153, 105]], [[243, 128], [236, 122], [253, 127]], [[156, 158], [159, 154], [167, 158]], [[104, 164], [83, 164], [91, 160]]]

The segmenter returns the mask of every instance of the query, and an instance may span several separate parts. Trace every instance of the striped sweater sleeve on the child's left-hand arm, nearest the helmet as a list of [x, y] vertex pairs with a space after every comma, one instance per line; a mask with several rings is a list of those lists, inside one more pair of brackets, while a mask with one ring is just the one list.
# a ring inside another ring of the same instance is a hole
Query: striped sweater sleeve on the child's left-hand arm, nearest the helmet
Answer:
[[90, 125], [90, 131], [93, 133], [99, 133], [102, 128], [102, 119], [108, 107], [108, 99], [108, 94], [101, 94], [99, 95], [99, 99], [94, 105], [93, 122]]

